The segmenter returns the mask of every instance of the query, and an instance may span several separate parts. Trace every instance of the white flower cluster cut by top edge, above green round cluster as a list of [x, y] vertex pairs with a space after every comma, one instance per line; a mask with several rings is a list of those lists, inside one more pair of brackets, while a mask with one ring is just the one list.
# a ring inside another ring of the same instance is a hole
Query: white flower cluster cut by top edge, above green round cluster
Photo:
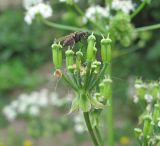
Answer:
[[135, 9], [135, 5], [131, 0], [113, 0], [112, 9], [122, 10], [123, 12], [129, 14]]

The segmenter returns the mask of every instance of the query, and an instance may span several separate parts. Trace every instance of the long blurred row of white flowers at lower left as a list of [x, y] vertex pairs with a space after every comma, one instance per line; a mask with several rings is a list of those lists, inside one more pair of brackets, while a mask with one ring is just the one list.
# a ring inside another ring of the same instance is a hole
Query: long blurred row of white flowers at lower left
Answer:
[[17, 99], [5, 106], [2, 112], [6, 119], [12, 122], [19, 115], [28, 114], [30, 116], [39, 116], [42, 108], [44, 109], [49, 105], [61, 107], [71, 102], [71, 100], [71, 95], [65, 98], [59, 98], [57, 93], [49, 93], [47, 89], [42, 89], [39, 92], [34, 91], [30, 94], [19, 95]]

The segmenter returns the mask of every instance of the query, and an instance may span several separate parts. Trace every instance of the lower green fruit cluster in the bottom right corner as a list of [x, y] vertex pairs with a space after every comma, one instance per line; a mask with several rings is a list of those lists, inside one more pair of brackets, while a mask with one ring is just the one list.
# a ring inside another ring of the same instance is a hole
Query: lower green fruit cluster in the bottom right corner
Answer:
[[154, 104], [151, 112], [143, 114], [140, 126], [134, 132], [142, 146], [154, 146], [160, 142], [160, 104]]

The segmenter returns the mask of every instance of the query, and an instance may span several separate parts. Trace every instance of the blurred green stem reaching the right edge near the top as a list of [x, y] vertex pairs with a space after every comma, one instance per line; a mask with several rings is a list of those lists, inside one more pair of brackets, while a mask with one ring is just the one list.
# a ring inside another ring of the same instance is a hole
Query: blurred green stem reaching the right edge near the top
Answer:
[[136, 32], [141, 32], [141, 31], [151, 31], [151, 30], [155, 30], [155, 29], [160, 29], [160, 24], [154, 24], [154, 25], [150, 25], [150, 26], [144, 26], [144, 27], [139, 27], [136, 28], [135, 31]]

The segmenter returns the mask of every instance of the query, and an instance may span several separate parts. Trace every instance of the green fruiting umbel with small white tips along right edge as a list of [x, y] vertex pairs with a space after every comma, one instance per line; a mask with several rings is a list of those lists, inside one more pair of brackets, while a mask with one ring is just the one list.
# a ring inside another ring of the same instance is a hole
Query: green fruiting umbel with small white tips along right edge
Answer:
[[156, 146], [160, 142], [160, 83], [137, 79], [134, 102], [144, 109], [139, 128], [134, 129], [136, 138], [141, 146]]

